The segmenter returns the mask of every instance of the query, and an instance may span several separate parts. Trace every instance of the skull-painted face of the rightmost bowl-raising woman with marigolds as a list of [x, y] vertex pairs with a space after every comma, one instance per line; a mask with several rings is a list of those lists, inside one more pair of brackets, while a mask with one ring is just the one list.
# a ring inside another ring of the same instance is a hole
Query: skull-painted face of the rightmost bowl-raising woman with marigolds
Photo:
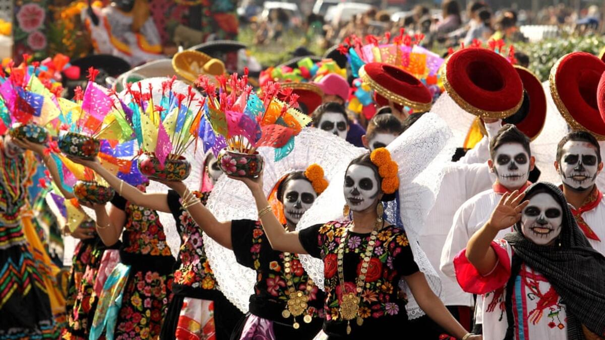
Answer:
[[344, 178], [344, 198], [352, 211], [364, 211], [378, 200], [376, 172], [369, 166], [352, 165]]

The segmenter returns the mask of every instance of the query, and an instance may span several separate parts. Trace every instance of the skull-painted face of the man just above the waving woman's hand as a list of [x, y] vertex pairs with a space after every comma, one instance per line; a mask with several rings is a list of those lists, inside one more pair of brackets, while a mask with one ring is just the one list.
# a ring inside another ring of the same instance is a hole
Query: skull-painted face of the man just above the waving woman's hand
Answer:
[[495, 151], [494, 172], [508, 189], [521, 188], [529, 178], [529, 154], [519, 143], [500, 145]]

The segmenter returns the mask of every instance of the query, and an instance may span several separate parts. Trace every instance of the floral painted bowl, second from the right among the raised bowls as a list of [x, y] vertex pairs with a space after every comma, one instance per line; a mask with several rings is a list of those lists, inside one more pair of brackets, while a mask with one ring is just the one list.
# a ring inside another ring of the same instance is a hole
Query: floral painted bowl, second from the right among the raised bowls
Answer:
[[189, 177], [191, 163], [187, 162], [183, 156], [178, 156], [178, 159], [171, 159], [171, 155], [168, 155], [162, 166], [160, 160], [154, 154], [146, 153], [139, 158], [139, 171], [154, 180], [182, 181]]

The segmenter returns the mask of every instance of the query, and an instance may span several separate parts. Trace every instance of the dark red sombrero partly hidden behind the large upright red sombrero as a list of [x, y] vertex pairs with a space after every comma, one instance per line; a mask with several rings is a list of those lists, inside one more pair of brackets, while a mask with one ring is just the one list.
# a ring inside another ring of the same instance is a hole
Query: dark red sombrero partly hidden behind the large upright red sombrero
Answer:
[[546, 122], [546, 94], [542, 83], [532, 71], [518, 65], [514, 67], [523, 82], [523, 103], [521, 108], [504, 119], [504, 122], [514, 124], [525, 136], [534, 140]]

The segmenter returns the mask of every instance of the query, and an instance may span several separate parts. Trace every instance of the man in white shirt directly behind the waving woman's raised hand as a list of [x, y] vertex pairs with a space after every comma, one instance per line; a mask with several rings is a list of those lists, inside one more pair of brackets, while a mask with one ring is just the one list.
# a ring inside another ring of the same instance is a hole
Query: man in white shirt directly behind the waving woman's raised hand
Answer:
[[[475, 195], [457, 209], [443, 245], [440, 269], [450, 280], [456, 278], [453, 267], [454, 257], [466, 246], [469, 238], [488, 220], [489, 214], [500, 197], [506, 192], [523, 191], [529, 185], [529, 172], [534, 168], [535, 159], [531, 156], [529, 139], [523, 132], [514, 125], [503, 126], [489, 142], [489, 152], [491, 157], [488, 160], [488, 166], [497, 177], [492, 189]], [[502, 233], [505, 234], [505, 232]], [[457, 291], [459, 292], [459, 290]], [[473, 305], [472, 296], [463, 293], [459, 293], [459, 296], [465, 299], [462, 306]], [[462, 300], [460, 301], [462, 302]], [[481, 315], [476, 314], [475, 316], [475, 323], [481, 324]]]

